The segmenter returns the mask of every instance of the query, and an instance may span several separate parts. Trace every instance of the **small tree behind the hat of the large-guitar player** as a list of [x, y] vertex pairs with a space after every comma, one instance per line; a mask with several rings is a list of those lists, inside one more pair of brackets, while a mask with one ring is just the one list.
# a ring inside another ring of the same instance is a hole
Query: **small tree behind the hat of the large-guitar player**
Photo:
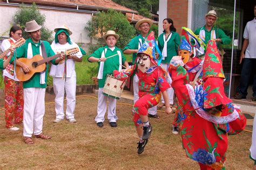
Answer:
[[[37, 24], [42, 25], [41, 39], [51, 42], [53, 40], [52, 31], [44, 26], [45, 15], [40, 12], [35, 3], [33, 3], [31, 7], [26, 7], [23, 4], [14, 15], [14, 23], [24, 29], [26, 22], [31, 20], [36, 20]], [[25, 39], [29, 38], [29, 34], [24, 32], [23, 37]]]

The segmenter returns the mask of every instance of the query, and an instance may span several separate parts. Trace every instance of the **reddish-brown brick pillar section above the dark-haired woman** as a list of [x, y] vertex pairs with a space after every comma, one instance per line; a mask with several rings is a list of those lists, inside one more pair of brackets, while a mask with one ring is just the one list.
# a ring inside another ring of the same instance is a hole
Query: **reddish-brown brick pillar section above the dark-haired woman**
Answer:
[[181, 34], [181, 27], [187, 27], [188, 0], [167, 0], [167, 17]]

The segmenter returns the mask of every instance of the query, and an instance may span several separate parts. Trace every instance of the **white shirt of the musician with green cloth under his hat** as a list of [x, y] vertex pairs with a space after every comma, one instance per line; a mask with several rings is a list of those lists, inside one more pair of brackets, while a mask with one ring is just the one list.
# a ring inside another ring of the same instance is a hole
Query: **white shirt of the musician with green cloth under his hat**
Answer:
[[[71, 41], [71, 42], [72, 42], [72, 44], [69, 44], [69, 42], [67, 42], [64, 45], [61, 45], [59, 43], [55, 44], [55, 42], [53, 41], [51, 44], [51, 48], [57, 54], [62, 51], [65, 51], [66, 49], [78, 47], [78, 45], [75, 42], [73, 42], [73, 41]], [[78, 49], [79, 49], [79, 47], [78, 47]], [[79, 49], [79, 52], [75, 55], [77, 56], [77, 58], [82, 57], [82, 53], [81, 53], [80, 49]], [[65, 62], [60, 63], [57, 66], [51, 65], [50, 75], [52, 77], [63, 77], [64, 67], [65, 67]], [[66, 60], [66, 77], [68, 77], [68, 78], [76, 77], [75, 61], [73, 59]]]

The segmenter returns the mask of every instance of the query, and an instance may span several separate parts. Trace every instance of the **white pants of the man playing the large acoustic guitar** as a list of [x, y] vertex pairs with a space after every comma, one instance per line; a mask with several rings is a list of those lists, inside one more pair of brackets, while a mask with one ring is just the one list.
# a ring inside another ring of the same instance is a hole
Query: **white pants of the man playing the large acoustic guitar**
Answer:
[[43, 88], [26, 88], [24, 93], [24, 111], [23, 111], [23, 136], [31, 137], [34, 133], [42, 133], [44, 117], [44, 97]]

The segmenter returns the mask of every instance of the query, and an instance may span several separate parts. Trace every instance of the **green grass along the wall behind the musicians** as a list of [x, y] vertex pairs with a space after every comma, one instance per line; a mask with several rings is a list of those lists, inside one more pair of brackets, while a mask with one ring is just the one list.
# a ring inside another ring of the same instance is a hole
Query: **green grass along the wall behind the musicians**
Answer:
[[[98, 74], [98, 63], [87, 61], [88, 55], [83, 56], [82, 62], [76, 62], [76, 74], [77, 84], [93, 84], [92, 77], [96, 77]], [[125, 55], [128, 62], [132, 61], [132, 55]], [[0, 76], [0, 89], [4, 88], [3, 72]], [[48, 72], [48, 86], [52, 86], [52, 76], [49, 76]]]

